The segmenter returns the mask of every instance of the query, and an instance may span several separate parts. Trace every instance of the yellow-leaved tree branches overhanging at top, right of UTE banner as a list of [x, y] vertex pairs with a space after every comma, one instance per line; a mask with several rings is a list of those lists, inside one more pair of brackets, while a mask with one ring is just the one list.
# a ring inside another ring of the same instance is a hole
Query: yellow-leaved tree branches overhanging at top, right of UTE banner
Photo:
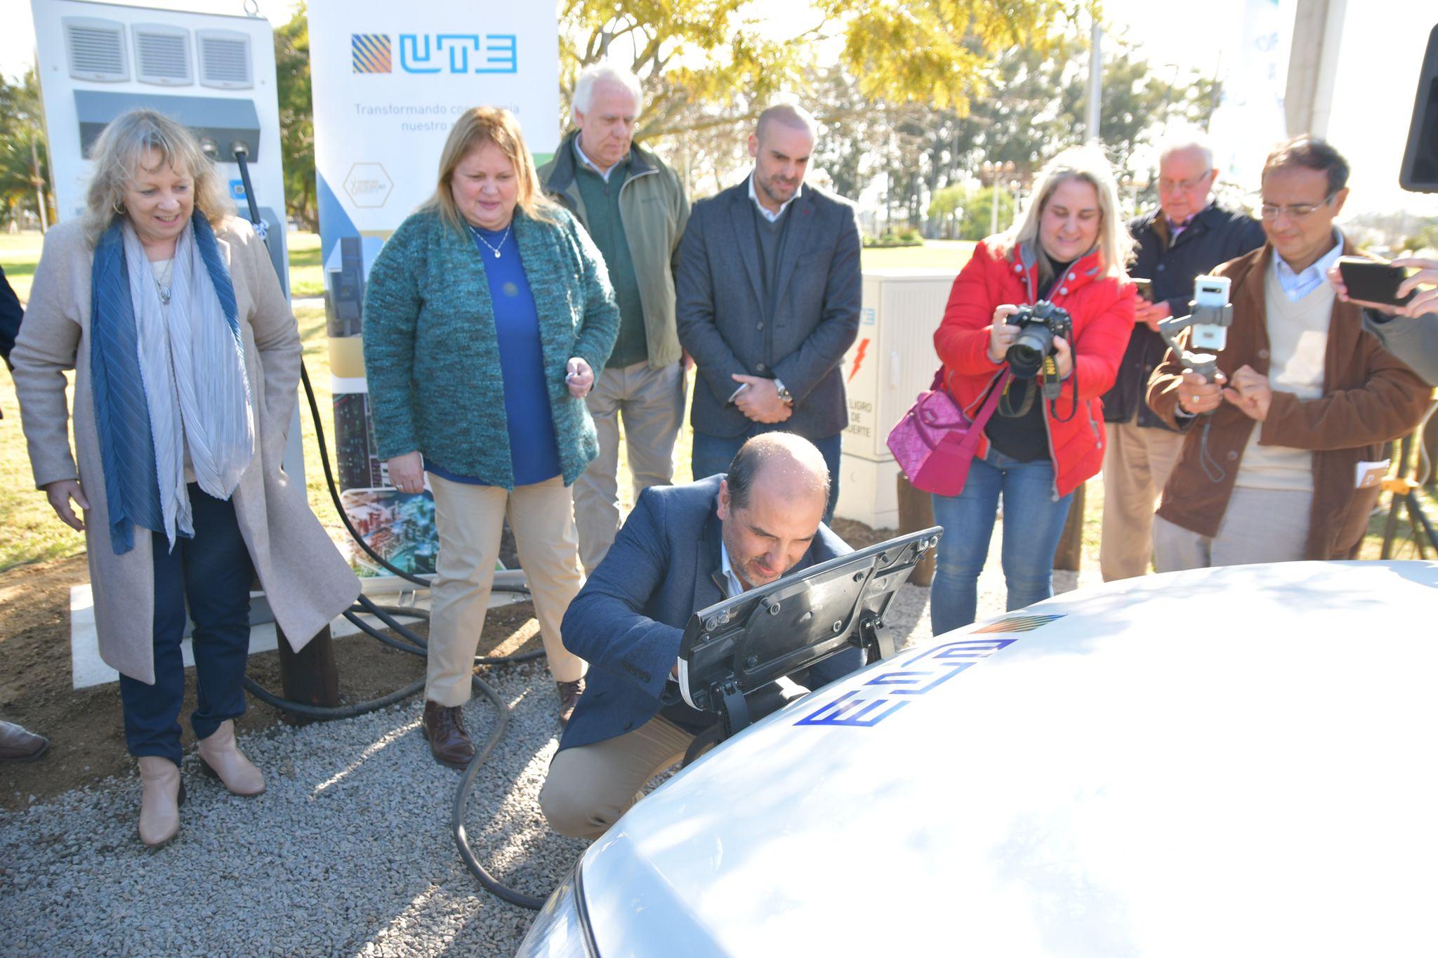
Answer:
[[841, 40], [840, 63], [860, 92], [889, 104], [968, 108], [992, 56], [1047, 50], [1054, 24], [1077, 12], [1066, 0], [815, 0], [815, 23], [775, 39], [749, 0], [565, 0], [559, 50], [564, 88], [605, 58], [646, 85], [640, 135], [700, 129], [751, 118], [779, 91], [807, 91], [820, 42]]

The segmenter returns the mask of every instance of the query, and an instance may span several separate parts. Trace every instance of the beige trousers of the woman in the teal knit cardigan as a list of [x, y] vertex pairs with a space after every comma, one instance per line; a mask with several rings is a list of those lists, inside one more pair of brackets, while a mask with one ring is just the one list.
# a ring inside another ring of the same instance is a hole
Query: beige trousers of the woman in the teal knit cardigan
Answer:
[[512, 492], [475, 486], [426, 473], [434, 492], [434, 524], [440, 534], [434, 584], [430, 587], [430, 654], [424, 698], [463, 705], [470, 696], [475, 650], [485, 629], [489, 588], [495, 583], [505, 516], [515, 531], [519, 564], [535, 601], [535, 617], [549, 673], [574, 682], [584, 659], [564, 647], [559, 621], [584, 585], [574, 534], [574, 502], [562, 476]]

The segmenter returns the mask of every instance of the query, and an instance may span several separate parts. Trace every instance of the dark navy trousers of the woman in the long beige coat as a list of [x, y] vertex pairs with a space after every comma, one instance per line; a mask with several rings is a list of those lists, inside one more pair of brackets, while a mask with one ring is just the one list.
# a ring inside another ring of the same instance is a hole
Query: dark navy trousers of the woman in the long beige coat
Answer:
[[190, 728], [209, 738], [220, 722], [244, 713], [244, 662], [250, 653], [250, 580], [255, 570], [240, 537], [234, 503], [190, 483], [194, 538], [170, 542], [151, 534], [155, 575], [155, 683], [119, 676], [125, 745], [131, 755], [160, 755], [180, 764], [180, 706], [184, 703], [186, 600], [194, 619], [196, 709]]

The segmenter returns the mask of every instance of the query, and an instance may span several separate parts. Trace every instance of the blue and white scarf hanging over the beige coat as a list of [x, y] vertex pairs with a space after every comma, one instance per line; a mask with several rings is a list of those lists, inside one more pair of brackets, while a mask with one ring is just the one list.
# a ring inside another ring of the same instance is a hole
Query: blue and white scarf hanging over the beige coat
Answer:
[[234, 285], [214, 230], [196, 213], [175, 243], [170, 305], [160, 302], [139, 237], [116, 220], [91, 273], [91, 384], [109, 538], [135, 525], [193, 538], [186, 452], [200, 488], [229, 499], [255, 455]]

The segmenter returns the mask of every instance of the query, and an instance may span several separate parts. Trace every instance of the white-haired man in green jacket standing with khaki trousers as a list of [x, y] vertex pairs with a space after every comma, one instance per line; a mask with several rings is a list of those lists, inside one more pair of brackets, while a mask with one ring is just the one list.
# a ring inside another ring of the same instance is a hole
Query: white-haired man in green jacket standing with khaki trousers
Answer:
[[574, 483], [580, 561], [592, 572], [620, 526], [620, 416], [634, 495], [674, 478], [674, 439], [684, 411], [674, 266], [689, 199], [673, 170], [634, 145], [637, 76], [595, 63], [580, 73], [572, 105], [577, 129], [539, 168], [539, 181], [590, 232], [620, 306], [614, 352], [585, 400], [600, 455]]

